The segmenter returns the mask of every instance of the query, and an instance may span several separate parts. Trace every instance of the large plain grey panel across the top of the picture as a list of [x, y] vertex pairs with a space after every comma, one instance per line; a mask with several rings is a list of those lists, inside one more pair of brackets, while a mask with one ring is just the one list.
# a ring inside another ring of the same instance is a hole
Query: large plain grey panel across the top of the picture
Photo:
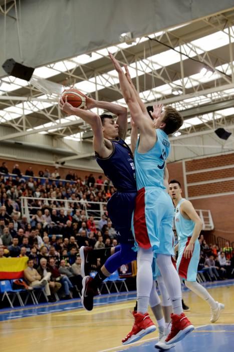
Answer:
[[[139, 37], [232, 7], [233, 0], [24, 0], [18, 7], [22, 57], [17, 22], [7, 17], [6, 56], [1, 50], [0, 63], [13, 57], [37, 67], [116, 44], [124, 32]], [[15, 17], [15, 9], [9, 15]], [[4, 16], [0, 32], [4, 48]]]

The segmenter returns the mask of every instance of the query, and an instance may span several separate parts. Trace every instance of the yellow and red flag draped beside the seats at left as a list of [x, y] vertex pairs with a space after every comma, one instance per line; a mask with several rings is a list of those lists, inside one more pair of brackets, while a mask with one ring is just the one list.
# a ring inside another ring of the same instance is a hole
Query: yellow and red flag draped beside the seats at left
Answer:
[[0, 280], [20, 279], [24, 277], [29, 258], [0, 258]]

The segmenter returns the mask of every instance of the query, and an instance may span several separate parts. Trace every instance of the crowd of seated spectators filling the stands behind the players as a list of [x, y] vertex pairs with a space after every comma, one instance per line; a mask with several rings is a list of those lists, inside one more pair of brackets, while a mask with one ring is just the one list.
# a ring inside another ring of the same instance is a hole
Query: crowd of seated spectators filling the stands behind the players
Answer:
[[[15, 164], [12, 173], [9, 175], [7, 163], [3, 162], [0, 258], [28, 257], [28, 285], [45, 287], [49, 300], [59, 290], [69, 299], [81, 290], [80, 247], [99, 249], [118, 244], [106, 211], [114, 188], [108, 180], [103, 181], [102, 175], [95, 180], [92, 173], [82, 180], [69, 171], [66, 180], [61, 180], [58, 168], [52, 173], [45, 168], [35, 177], [32, 167], [23, 175], [19, 164]], [[21, 197], [28, 197], [27, 216], [21, 208]], [[203, 235], [199, 241], [198, 270], [207, 272], [210, 280], [230, 277], [234, 268], [230, 244], [227, 242], [223, 248], [207, 245]]]

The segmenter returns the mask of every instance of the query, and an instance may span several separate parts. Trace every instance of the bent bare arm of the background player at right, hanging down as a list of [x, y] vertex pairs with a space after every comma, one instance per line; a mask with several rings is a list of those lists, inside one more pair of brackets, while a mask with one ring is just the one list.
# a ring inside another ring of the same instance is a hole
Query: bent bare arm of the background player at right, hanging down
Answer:
[[190, 238], [189, 244], [184, 250], [184, 257], [190, 258], [190, 256], [192, 256], [194, 242], [199, 237], [199, 234], [202, 230], [202, 221], [196, 213], [195, 209], [193, 208], [192, 203], [187, 200], [181, 204], [180, 211], [182, 214], [184, 213], [190, 220], [194, 221], [195, 223], [192, 237]]

